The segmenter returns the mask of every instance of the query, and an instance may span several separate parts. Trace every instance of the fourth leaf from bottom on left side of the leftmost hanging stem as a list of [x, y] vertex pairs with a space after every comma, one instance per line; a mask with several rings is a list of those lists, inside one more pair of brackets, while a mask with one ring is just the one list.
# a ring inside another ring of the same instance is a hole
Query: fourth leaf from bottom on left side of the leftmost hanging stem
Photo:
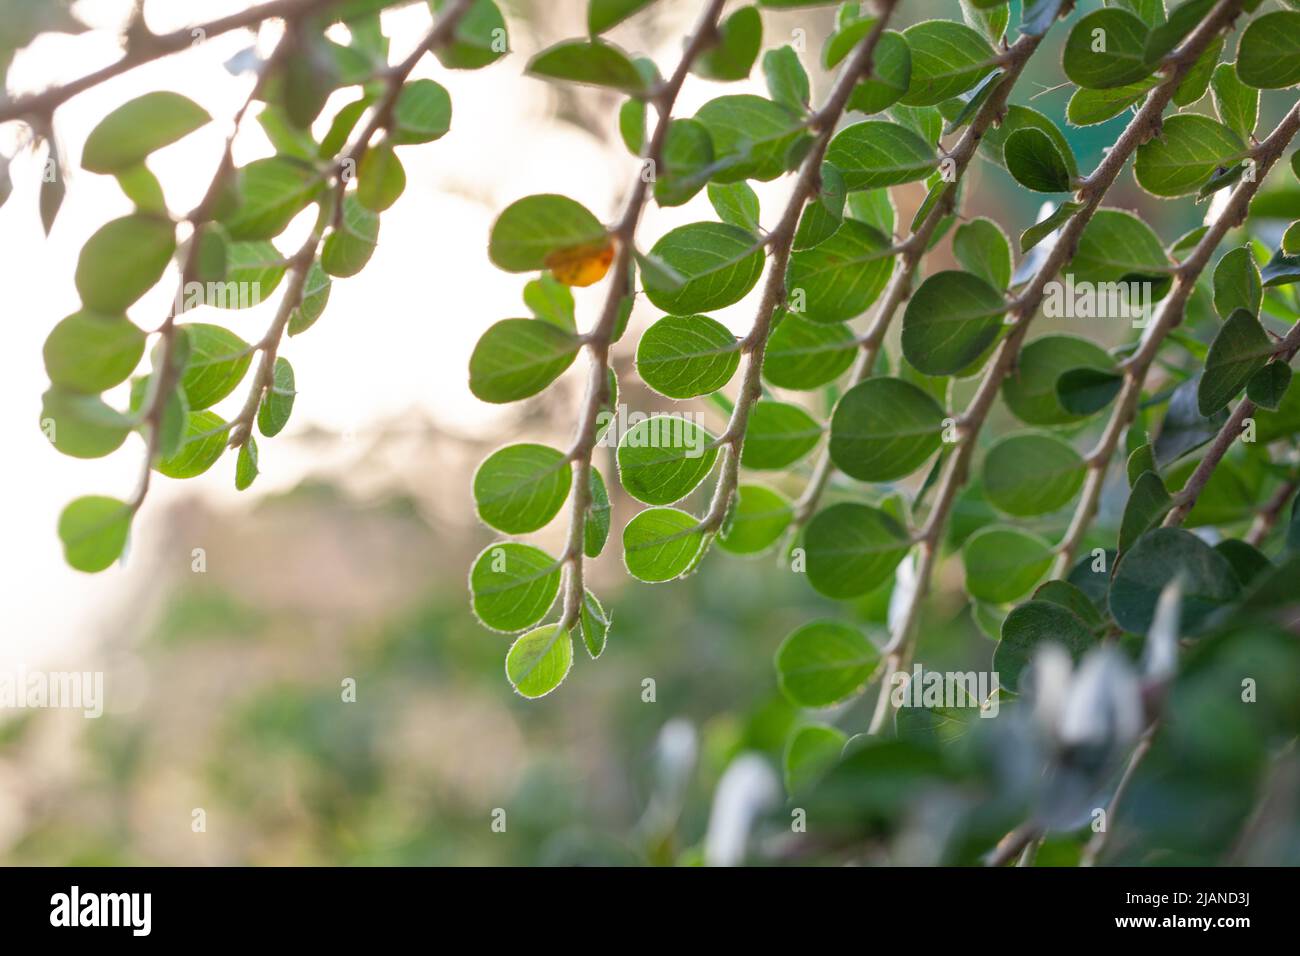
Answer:
[[176, 252], [176, 228], [139, 213], [105, 222], [82, 247], [77, 291], [92, 312], [120, 315], [152, 289]]

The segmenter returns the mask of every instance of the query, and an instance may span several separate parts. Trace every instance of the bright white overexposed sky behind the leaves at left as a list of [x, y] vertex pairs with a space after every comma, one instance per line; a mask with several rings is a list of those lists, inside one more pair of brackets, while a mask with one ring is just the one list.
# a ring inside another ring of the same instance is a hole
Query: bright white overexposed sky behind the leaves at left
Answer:
[[[157, 31], [178, 29], [242, 9], [246, 0], [186, 0], [150, 4], [150, 25]], [[40, 88], [82, 75], [118, 56], [114, 29], [130, 0], [83, 0], [82, 18], [98, 27], [82, 36], [47, 36], [16, 60], [16, 90]], [[693, 4], [679, 4], [684, 18], [694, 17]], [[172, 20], [155, 20], [155, 17]], [[428, 9], [387, 14], [394, 38], [394, 59], [404, 55], [429, 23]], [[670, 70], [680, 51], [681, 30], [663, 23], [663, 48], [651, 52], [660, 69]], [[580, 29], [575, 25], [575, 30]], [[768, 38], [770, 42], [775, 38]], [[264, 43], [273, 36], [264, 36]], [[73, 271], [82, 243], [105, 221], [130, 211], [110, 177], [79, 169], [86, 133], [110, 109], [150, 90], [176, 90], [190, 96], [216, 118], [208, 127], [156, 153], [150, 165], [162, 181], [173, 211], [192, 208], [211, 181], [230, 117], [247, 96], [251, 78], [231, 77], [222, 64], [250, 43], [250, 34], [217, 38], [185, 53], [136, 69], [61, 107], [56, 127], [73, 168], [68, 199], [48, 239], [36, 212], [39, 157], [23, 153], [14, 160], [14, 193], [0, 208], [0, 274], [6, 306], [5, 347], [0, 350], [0, 447], [5, 451], [5, 494], [0, 499], [0, 527], [6, 546], [0, 549], [0, 669], [74, 667], [73, 649], [96, 636], [95, 622], [107, 609], [120, 606], [129, 593], [133, 562], [90, 576], [64, 564], [55, 525], [62, 506], [81, 494], [127, 497], [143, 458], [143, 442], [133, 436], [113, 455], [78, 460], [57, 454], [38, 427], [40, 394], [48, 386], [40, 350], [49, 329], [78, 307]], [[448, 72], [426, 57], [415, 75], [438, 79], [451, 92], [451, 133], [437, 143], [404, 147], [408, 185], [406, 194], [384, 215], [380, 246], [358, 277], [335, 281], [329, 307], [311, 332], [289, 339], [282, 349], [298, 380], [294, 418], [285, 436], [316, 424], [333, 431], [361, 431], [367, 423], [407, 410], [422, 410], [447, 428], [471, 432], [489, 427], [498, 410], [480, 403], [467, 388], [467, 365], [482, 330], [498, 319], [528, 315], [520, 291], [528, 276], [497, 271], [486, 256], [488, 232], [494, 215], [530, 193], [563, 193], [586, 204], [597, 216], [612, 220], [636, 161], [621, 147], [611, 148], [577, 127], [554, 118], [554, 95], [547, 85], [521, 77], [530, 51], [515, 44], [511, 56], [477, 72]], [[646, 52], [646, 51], [633, 51]], [[758, 91], [749, 83], [725, 87], [688, 81], [679, 114], [690, 114], [722, 92]], [[593, 94], [598, 95], [598, 94]], [[325, 117], [351, 94], [333, 100]], [[612, 114], [611, 114], [612, 121]], [[270, 147], [256, 122], [239, 140], [237, 161], [269, 155]], [[0, 147], [9, 151], [12, 133], [0, 129]], [[788, 190], [785, 183], [762, 189], [763, 221]], [[692, 203], [660, 212], [649, 207], [642, 245], [649, 246], [672, 225], [714, 219], [701, 195]], [[277, 241], [282, 250], [296, 247], [303, 222]], [[166, 313], [176, 290], [176, 274], [131, 310], [138, 325], [153, 329]], [[578, 323], [590, 323], [598, 311], [603, 285], [578, 291]], [[718, 317], [737, 332], [748, 328], [758, 289]], [[240, 312], [202, 308], [187, 316], [195, 321], [228, 325], [247, 341], [260, 338], [270, 320], [274, 298]], [[645, 316], [642, 316], [645, 317]], [[584, 360], [569, 375], [585, 375]], [[217, 406], [226, 418], [243, 401], [240, 388]], [[125, 399], [121, 405], [125, 406]], [[650, 410], [646, 410], [650, 411]], [[179, 483], [156, 476], [150, 501], [136, 518], [134, 545], [147, 550], [161, 533], [157, 523], [164, 503], [178, 494], [202, 494], [222, 507], [250, 507], [259, 494], [292, 485], [320, 462], [309, 449], [277, 438], [263, 442], [263, 472], [250, 492], [233, 486], [233, 455], [207, 475]], [[467, 507], [468, 507], [468, 489]], [[135, 562], [139, 563], [139, 562]]]

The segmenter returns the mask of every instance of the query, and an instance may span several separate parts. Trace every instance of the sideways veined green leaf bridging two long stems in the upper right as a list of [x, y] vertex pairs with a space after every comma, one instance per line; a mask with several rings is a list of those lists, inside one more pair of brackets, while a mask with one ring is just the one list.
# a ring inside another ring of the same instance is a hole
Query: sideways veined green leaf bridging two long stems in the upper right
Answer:
[[1160, 137], [1138, 147], [1134, 176], [1152, 195], [1184, 196], [1244, 152], [1242, 138], [1217, 120], [1178, 113], [1165, 120]]

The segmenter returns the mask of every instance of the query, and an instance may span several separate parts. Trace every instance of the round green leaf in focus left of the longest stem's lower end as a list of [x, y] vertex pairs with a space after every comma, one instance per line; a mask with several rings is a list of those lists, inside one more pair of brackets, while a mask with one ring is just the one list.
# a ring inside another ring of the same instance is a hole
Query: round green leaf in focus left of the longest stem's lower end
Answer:
[[776, 650], [776, 679], [792, 702], [827, 708], [857, 693], [880, 663], [880, 652], [857, 628], [816, 620]]

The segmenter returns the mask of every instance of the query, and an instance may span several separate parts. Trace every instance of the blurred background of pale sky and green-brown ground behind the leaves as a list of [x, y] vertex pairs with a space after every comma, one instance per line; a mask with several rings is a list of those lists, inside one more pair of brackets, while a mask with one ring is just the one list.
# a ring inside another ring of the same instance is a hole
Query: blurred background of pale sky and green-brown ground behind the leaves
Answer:
[[[153, 30], [165, 31], [247, 5], [155, 0], [146, 14]], [[20, 51], [12, 91], [66, 82], [114, 60], [131, 7], [73, 4], [90, 29], [44, 35]], [[503, 675], [508, 639], [480, 627], [468, 607], [468, 566], [491, 540], [474, 519], [469, 480], [502, 444], [563, 446], [585, 368], [577, 362], [558, 388], [519, 406], [485, 406], [469, 394], [467, 363], [481, 332], [528, 313], [521, 290], [529, 277], [489, 264], [488, 230], [500, 208], [530, 193], [562, 193], [612, 219], [637, 163], [618, 138], [620, 98], [523, 75], [533, 52], [585, 31], [585, 0], [502, 7], [511, 56], [473, 73], [445, 70], [432, 57], [417, 68], [416, 77], [434, 77], [451, 92], [451, 133], [406, 151], [410, 183], [384, 216], [370, 265], [335, 282], [324, 317], [282, 350], [298, 373], [298, 398], [286, 432], [263, 444], [257, 483], [235, 493], [233, 455], [192, 481], [157, 480], [122, 564], [94, 578], [64, 564], [57, 515], [79, 494], [127, 494], [143, 445], [133, 437], [118, 454], [81, 462], [58, 457], [38, 428], [40, 349], [77, 307], [77, 252], [129, 208], [109, 177], [78, 169], [81, 144], [131, 96], [155, 88], [186, 94], [217, 122], [160, 152], [151, 166], [172, 208], [191, 208], [247, 96], [250, 78], [225, 64], [251, 36], [216, 38], [60, 108], [56, 135], [73, 174], [48, 238], [36, 215], [43, 156], [14, 159], [14, 193], [0, 209], [0, 527], [8, 538], [0, 549], [0, 670], [103, 671], [105, 713], [84, 719], [79, 711], [0, 710], [0, 860], [698, 861], [727, 769], [745, 754], [740, 766], [759, 780], [750, 792], [764, 792], [762, 766], [779, 774], [786, 732], [802, 719], [776, 689], [771, 662], [780, 640], [816, 615], [848, 613], [883, 627], [888, 592], [846, 609], [816, 597], [772, 557], [715, 554], [701, 574], [650, 587], [627, 579], [611, 546], [592, 571], [614, 618], [604, 656], [592, 662], [580, 654], [545, 700], [511, 693]], [[697, 13], [693, 0], [660, 0], [610, 38], [667, 72]], [[957, 17], [957, 3], [909, 0], [898, 29], [933, 14]], [[833, 17], [833, 5], [764, 12], [764, 48], [805, 31], [814, 100], [829, 82], [818, 61]], [[416, 4], [385, 22], [396, 59], [422, 35], [429, 12]], [[1053, 33], [1013, 99], [1035, 95], [1032, 104], [1063, 126], [1070, 90], [1053, 87], [1063, 78], [1058, 51], [1066, 31]], [[268, 29], [259, 47], [273, 40]], [[763, 94], [759, 70], [755, 77], [728, 85], [693, 77], [677, 113], [689, 116], [723, 94]], [[343, 101], [346, 94], [326, 107], [326, 121]], [[1260, 127], [1270, 127], [1284, 105], [1266, 96]], [[1097, 163], [1123, 122], [1121, 116], [1067, 130], [1080, 168]], [[237, 161], [269, 155], [256, 124], [246, 129]], [[13, 143], [4, 138], [12, 135], [0, 129], [6, 152]], [[970, 176], [965, 215], [991, 216], [1013, 235], [1034, 222], [1037, 199], [1001, 169], [978, 163]], [[789, 186], [755, 186], [771, 225]], [[907, 222], [923, 185], [896, 196]], [[1166, 242], [1204, 216], [1191, 202], [1144, 196], [1127, 173], [1108, 204], [1139, 211]], [[642, 246], [705, 219], [714, 213], [703, 194], [675, 209], [651, 206]], [[281, 247], [292, 248], [308, 226], [295, 222]], [[944, 243], [931, 268], [948, 263]], [[133, 307], [133, 319], [156, 328], [174, 285], [174, 276], [165, 278]], [[593, 320], [603, 286], [575, 291], [581, 326]], [[744, 332], [755, 304], [757, 291], [716, 317]], [[194, 317], [252, 341], [273, 308]], [[633, 343], [655, 317], [638, 304], [633, 332], [616, 351], [621, 401], [644, 412], [672, 405], [634, 382]], [[1052, 328], [1044, 321], [1041, 330]], [[1117, 324], [1110, 334], [1118, 341], [1131, 332]], [[238, 405], [242, 392], [231, 401]], [[703, 405], [699, 411], [719, 415]], [[598, 464], [614, 472], [612, 462]], [[797, 492], [802, 480], [788, 476], [785, 490]], [[616, 498], [615, 528], [633, 511]], [[552, 545], [562, 533], [549, 528], [540, 544]], [[202, 571], [195, 549], [203, 549]], [[937, 583], [924, 635], [936, 667], [988, 666], [993, 644], [967, 614], [956, 567]], [[347, 679], [355, 680], [355, 702], [342, 698]], [[874, 693], [850, 706], [872, 701]], [[864, 719], [849, 714], [845, 722]], [[196, 809], [205, 818], [198, 832]], [[503, 832], [493, 826], [500, 812]]]

